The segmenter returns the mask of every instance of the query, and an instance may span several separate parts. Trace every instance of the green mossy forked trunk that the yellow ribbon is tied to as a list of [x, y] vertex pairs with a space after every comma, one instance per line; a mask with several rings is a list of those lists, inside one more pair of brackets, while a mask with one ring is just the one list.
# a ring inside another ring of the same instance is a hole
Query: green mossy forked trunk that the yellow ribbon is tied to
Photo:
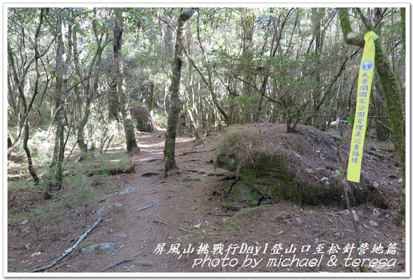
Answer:
[[[373, 30], [371, 22], [363, 15], [360, 9], [358, 9], [366, 29]], [[338, 14], [340, 18], [341, 30], [343, 31], [344, 40], [347, 43], [364, 47], [363, 36], [357, 36], [351, 29], [351, 24], [348, 16], [348, 8], [338, 8]], [[398, 155], [400, 156], [403, 164], [403, 170], [405, 170], [406, 164], [406, 146], [405, 146], [405, 117], [404, 117], [404, 104], [402, 101], [402, 94], [399, 91], [396, 74], [390, 64], [389, 58], [382, 48], [381, 40], [378, 38], [374, 41], [376, 46], [375, 65], [377, 73], [380, 77], [383, 93], [384, 93], [384, 106], [389, 115], [390, 128], [395, 139], [394, 144]], [[404, 176], [405, 176], [405, 172]]]

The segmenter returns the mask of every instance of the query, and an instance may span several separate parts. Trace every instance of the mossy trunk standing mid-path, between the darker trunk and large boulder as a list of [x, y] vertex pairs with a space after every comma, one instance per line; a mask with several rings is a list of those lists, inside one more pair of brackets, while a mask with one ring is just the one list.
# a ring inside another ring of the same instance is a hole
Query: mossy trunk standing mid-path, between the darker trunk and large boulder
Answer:
[[181, 81], [182, 49], [186, 22], [195, 13], [196, 8], [183, 8], [181, 11], [182, 13], [178, 18], [172, 82], [169, 90], [171, 94], [171, 104], [169, 105], [168, 110], [168, 122], [166, 127], [166, 140], [164, 149], [165, 173], [173, 170], [178, 170], [178, 166], [175, 161], [175, 138], [179, 113], [179, 86]]

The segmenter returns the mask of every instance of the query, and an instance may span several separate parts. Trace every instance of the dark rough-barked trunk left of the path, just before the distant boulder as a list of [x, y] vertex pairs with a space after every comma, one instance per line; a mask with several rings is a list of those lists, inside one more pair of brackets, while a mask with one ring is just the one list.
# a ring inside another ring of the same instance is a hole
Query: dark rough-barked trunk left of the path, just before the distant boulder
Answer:
[[119, 96], [120, 113], [122, 115], [123, 129], [125, 131], [126, 151], [139, 151], [135, 139], [132, 118], [129, 111], [129, 98], [126, 93], [125, 76], [122, 61], [122, 34], [123, 29], [119, 20], [114, 21], [113, 26], [113, 54], [116, 73], [117, 93]]

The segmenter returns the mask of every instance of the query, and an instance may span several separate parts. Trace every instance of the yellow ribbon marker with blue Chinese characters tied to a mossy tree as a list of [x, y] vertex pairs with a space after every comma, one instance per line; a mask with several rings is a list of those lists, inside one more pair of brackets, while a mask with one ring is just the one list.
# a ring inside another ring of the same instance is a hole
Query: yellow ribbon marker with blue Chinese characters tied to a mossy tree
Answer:
[[347, 166], [347, 180], [356, 183], [360, 182], [361, 160], [363, 158], [364, 136], [366, 134], [367, 113], [369, 111], [370, 91], [374, 72], [374, 56], [376, 53], [374, 41], [377, 38], [379, 36], [373, 31], [368, 31], [364, 35], [364, 50], [358, 74], [356, 113], [354, 115], [350, 156]]

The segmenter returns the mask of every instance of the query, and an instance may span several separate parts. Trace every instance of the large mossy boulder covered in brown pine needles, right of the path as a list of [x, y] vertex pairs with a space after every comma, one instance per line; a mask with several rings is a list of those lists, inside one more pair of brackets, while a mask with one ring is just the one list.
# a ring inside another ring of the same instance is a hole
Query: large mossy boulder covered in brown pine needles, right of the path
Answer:
[[[341, 170], [334, 141], [310, 126], [298, 125], [296, 130], [287, 134], [280, 124], [230, 127], [215, 150], [214, 165], [241, 179], [231, 189], [235, 200], [254, 203], [259, 191], [262, 200], [275, 203], [345, 205], [342, 179], [334, 177]], [[340, 149], [343, 160], [348, 159], [347, 148]], [[351, 204], [388, 207], [397, 187], [377, 187], [369, 169], [362, 167], [360, 184], [348, 183]]]

